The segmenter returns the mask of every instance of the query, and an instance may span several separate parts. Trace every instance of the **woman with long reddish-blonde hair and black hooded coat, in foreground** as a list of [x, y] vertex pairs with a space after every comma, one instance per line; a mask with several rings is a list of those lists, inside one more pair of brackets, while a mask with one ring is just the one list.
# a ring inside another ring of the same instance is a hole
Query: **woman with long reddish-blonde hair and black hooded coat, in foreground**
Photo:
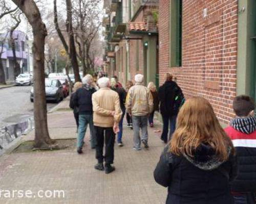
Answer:
[[229, 182], [237, 171], [234, 147], [211, 105], [189, 98], [154, 171], [156, 182], [168, 187], [166, 203], [231, 204]]

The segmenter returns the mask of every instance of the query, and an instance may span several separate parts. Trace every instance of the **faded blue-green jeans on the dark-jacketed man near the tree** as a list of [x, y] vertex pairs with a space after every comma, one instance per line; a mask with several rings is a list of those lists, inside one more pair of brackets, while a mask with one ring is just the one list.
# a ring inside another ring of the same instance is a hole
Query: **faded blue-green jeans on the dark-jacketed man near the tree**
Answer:
[[79, 114], [79, 126], [78, 126], [78, 135], [77, 135], [77, 148], [82, 148], [84, 142], [84, 136], [86, 135], [87, 126], [90, 126], [90, 135], [91, 135], [91, 147], [95, 148], [96, 139], [95, 131], [93, 126], [93, 115], [84, 115]]

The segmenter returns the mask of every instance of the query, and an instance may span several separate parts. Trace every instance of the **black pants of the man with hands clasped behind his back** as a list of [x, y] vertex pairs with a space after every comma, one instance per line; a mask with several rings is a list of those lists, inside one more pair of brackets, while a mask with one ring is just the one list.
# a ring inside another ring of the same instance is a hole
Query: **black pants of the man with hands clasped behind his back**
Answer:
[[[94, 126], [96, 132], [96, 159], [98, 163], [113, 164], [114, 162], [114, 144], [115, 133], [113, 127]], [[104, 132], [105, 132], [105, 156], [103, 156], [104, 147]]]

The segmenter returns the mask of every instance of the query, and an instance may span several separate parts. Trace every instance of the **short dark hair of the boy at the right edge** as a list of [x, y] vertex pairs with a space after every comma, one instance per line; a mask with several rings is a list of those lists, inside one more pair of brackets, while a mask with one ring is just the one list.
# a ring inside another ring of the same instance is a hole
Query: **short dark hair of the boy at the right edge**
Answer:
[[239, 117], [246, 117], [255, 109], [254, 100], [248, 95], [239, 95], [233, 100], [233, 109]]

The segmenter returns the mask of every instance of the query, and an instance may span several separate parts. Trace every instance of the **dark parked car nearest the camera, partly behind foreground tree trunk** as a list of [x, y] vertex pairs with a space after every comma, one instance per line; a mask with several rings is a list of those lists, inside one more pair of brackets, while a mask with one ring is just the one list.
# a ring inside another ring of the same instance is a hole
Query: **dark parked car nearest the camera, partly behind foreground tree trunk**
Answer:
[[[63, 100], [63, 87], [59, 80], [45, 79], [46, 84], [46, 100], [47, 101], [60, 101]], [[30, 91], [30, 101], [34, 101], [34, 88]]]

